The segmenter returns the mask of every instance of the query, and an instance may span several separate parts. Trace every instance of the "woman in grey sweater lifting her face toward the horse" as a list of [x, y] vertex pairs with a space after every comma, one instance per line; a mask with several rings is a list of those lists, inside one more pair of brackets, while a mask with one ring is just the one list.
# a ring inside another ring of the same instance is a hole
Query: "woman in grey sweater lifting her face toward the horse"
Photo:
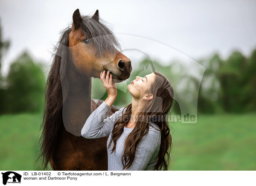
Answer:
[[[136, 76], [131, 104], [106, 118], [117, 96], [112, 75], [100, 73], [108, 98], [87, 118], [84, 138], [108, 137], [108, 170], [167, 170], [172, 137], [166, 121], [173, 102], [170, 81], [161, 73]], [[106, 118], [106, 119], [105, 119]]]

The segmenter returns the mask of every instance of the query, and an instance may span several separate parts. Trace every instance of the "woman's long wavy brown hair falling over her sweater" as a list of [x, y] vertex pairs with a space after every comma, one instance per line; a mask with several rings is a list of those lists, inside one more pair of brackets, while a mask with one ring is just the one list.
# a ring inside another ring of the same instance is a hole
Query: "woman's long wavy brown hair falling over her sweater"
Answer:
[[[142, 109], [138, 112], [135, 127], [125, 140], [124, 153], [122, 156], [122, 164], [124, 166], [123, 170], [131, 166], [134, 160], [136, 147], [140, 142], [140, 139], [148, 133], [148, 120], [154, 120], [154, 123], [158, 125], [161, 131], [161, 145], [157, 155], [157, 164], [155, 165], [154, 170], [167, 170], [169, 167], [172, 136], [166, 120], [166, 115], [172, 107], [174, 93], [172, 84], [166, 76], [159, 72], [153, 73], [156, 75], [156, 78], [148, 90], [148, 93], [153, 94], [153, 99], [148, 102], [144, 102], [140, 107]], [[109, 148], [111, 142], [113, 142], [111, 153], [113, 153], [116, 148], [116, 139], [121, 136], [124, 127], [130, 120], [131, 104], [127, 105], [124, 110], [122, 116], [117, 119], [113, 126], [111, 140], [108, 145]], [[155, 119], [155, 117], [157, 119]], [[128, 157], [128, 159], [126, 157]]]

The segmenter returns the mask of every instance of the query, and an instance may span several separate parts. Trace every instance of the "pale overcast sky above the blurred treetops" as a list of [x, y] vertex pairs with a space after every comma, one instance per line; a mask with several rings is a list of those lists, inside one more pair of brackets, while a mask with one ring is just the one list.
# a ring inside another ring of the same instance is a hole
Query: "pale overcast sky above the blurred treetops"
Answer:
[[[24, 49], [36, 60], [50, 64], [52, 46], [77, 8], [83, 15], [93, 15], [99, 9], [123, 49], [135, 48], [161, 61], [174, 56], [155, 42], [195, 60], [213, 52], [226, 58], [234, 49], [249, 55], [256, 48], [255, 0], [111, 2], [1, 0], [3, 38], [11, 41], [3, 58], [3, 73]], [[131, 52], [128, 57], [133, 61], [138, 56], [138, 52]]]

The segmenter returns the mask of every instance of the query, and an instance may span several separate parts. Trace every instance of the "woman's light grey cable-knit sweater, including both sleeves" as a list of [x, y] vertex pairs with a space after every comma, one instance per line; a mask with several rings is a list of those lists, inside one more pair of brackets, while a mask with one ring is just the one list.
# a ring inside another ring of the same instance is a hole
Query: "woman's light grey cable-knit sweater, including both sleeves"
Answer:
[[[114, 122], [119, 116], [122, 116], [122, 110], [124, 110], [124, 108], [121, 108], [120, 110], [116, 111], [111, 116], [106, 118], [110, 109], [111, 107], [107, 103], [102, 102], [102, 104], [99, 105], [99, 107], [96, 108], [93, 113], [91, 113], [91, 115], [87, 118], [81, 130], [81, 135], [84, 138], [88, 139], [108, 137], [108, 147]], [[157, 130], [151, 125], [157, 128]], [[133, 129], [134, 128], [124, 127], [122, 135], [116, 140], [116, 149], [113, 151], [113, 153], [110, 154], [111, 149], [113, 148], [113, 142], [111, 143], [110, 148], [107, 149], [109, 171], [122, 170], [122, 155], [124, 152], [124, 142], [128, 134], [130, 134]], [[150, 122], [149, 131], [138, 143], [135, 151], [134, 161], [128, 169], [125, 169], [126, 171], [154, 170], [154, 166], [157, 163], [156, 159], [161, 142], [161, 134], [158, 130], [160, 130], [159, 127], [155, 123]]]

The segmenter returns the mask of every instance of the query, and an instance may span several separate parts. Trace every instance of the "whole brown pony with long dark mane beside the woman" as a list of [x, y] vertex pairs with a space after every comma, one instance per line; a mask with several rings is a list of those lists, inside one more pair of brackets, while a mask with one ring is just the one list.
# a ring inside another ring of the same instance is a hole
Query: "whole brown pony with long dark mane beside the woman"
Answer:
[[[46, 83], [39, 138], [41, 166], [53, 170], [108, 170], [107, 139], [85, 139], [81, 129], [103, 100], [91, 99], [92, 77], [106, 70], [113, 81], [130, 77], [131, 60], [122, 54], [113, 32], [99, 19], [73, 12], [72, 26], [55, 46]], [[114, 105], [108, 116], [119, 110]]]

